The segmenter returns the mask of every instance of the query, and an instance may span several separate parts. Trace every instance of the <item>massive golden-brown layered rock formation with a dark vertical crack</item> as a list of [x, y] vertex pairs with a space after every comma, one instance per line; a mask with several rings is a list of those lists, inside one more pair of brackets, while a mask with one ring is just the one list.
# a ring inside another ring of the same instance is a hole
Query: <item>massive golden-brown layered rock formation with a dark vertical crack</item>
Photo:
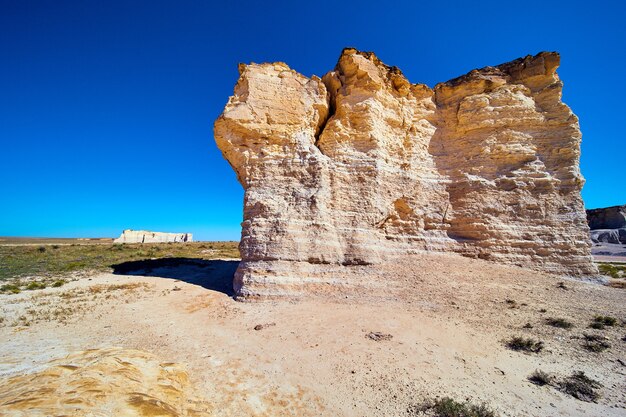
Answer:
[[557, 53], [434, 90], [345, 49], [307, 78], [241, 65], [215, 139], [244, 186], [244, 297], [298, 295], [421, 251], [595, 274]]

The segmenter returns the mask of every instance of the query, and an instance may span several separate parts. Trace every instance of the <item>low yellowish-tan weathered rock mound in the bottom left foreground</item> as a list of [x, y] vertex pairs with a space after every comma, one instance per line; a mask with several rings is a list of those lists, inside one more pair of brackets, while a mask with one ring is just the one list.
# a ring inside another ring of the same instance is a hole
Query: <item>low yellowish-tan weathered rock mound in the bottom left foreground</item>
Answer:
[[185, 368], [130, 349], [91, 349], [0, 382], [3, 416], [211, 415]]

